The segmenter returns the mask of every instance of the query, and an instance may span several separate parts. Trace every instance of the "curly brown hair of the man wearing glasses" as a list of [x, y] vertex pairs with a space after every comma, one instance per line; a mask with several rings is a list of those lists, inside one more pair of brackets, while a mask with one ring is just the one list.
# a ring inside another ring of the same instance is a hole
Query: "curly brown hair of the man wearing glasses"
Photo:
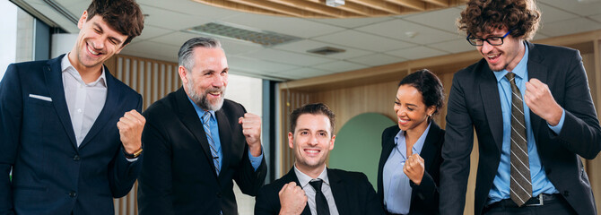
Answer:
[[532, 39], [541, 17], [534, 1], [470, 0], [457, 19], [457, 27], [471, 35], [507, 27], [514, 38]]

